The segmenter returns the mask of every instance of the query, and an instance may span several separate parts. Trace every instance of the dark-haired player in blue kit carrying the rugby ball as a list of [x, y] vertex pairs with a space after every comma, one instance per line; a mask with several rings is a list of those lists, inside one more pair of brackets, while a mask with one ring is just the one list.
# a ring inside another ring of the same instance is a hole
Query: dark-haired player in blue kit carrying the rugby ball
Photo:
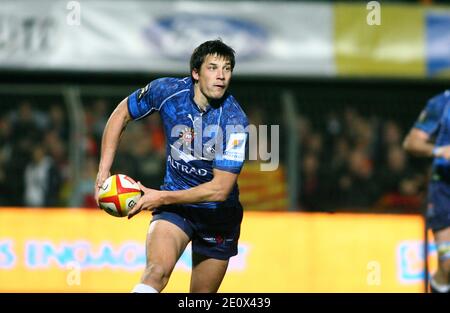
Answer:
[[[236, 181], [248, 121], [227, 93], [234, 64], [232, 48], [220, 40], [207, 41], [191, 56], [191, 77], [152, 81], [124, 99], [105, 126], [96, 192], [109, 176], [120, 134], [130, 120], [159, 112], [166, 134], [164, 185], [161, 190], [141, 185], [145, 194], [128, 216], [154, 210], [147, 264], [134, 292], [163, 290], [190, 241], [191, 292], [216, 292], [229, 258], [237, 254], [243, 210]], [[235, 129], [227, 131], [229, 126]]]

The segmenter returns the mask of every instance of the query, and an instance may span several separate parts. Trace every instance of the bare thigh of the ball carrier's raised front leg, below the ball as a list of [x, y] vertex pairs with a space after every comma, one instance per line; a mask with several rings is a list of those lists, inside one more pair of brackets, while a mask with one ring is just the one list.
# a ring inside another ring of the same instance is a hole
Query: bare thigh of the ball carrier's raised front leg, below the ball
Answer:
[[158, 264], [171, 272], [189, 241], [177, 225], [162, 219], [152, 221], [147, 233], [147, 266]]

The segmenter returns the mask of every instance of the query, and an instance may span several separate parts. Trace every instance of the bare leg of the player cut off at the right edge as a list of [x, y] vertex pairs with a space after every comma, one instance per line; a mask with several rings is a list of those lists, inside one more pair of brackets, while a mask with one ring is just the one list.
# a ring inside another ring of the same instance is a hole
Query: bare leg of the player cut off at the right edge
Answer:
[[450, 292], [450, 227], [435, 231], [438, 269], [431, 279], [432, 292]]

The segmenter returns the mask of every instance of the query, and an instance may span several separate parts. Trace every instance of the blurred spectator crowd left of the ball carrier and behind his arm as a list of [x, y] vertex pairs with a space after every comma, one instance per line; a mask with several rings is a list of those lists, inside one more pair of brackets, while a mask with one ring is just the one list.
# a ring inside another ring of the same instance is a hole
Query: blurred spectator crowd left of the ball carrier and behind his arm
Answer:
[[[94, 183], [101, 137], [115, 107], [105, 99], [87, 102], [81, 140], [83, 166], [73, 182], [70, 127], [61, 103], [45, 108], [30, 100], [0, 112], [0, 206], [96, 207]], [[155, 116], [156, 117], [156, 116]], [[163, 179], [164, 136], [159, 119], [131, 123], [123, 134], [112, 173], [125, 173], [158, 188]]]

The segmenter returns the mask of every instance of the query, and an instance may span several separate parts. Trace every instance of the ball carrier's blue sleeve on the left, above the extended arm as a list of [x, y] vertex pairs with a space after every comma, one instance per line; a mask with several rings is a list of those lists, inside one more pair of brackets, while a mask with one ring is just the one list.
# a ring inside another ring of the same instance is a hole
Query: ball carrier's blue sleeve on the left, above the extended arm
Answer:
[[128, 96], [128, 112], [138, 120], [159, 111], [170, 92], [177, 88], [176, 79], [159, 78]]

